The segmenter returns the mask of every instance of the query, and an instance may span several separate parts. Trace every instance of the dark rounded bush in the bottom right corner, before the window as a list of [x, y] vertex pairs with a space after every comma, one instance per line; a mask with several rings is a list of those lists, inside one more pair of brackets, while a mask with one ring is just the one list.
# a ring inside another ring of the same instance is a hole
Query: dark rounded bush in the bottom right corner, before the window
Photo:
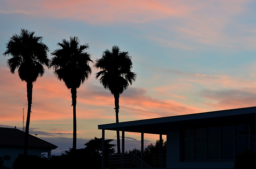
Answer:
[[236, 156], [234, 169], [255, 169], [256, 152], [245, 149], [242, 154]]

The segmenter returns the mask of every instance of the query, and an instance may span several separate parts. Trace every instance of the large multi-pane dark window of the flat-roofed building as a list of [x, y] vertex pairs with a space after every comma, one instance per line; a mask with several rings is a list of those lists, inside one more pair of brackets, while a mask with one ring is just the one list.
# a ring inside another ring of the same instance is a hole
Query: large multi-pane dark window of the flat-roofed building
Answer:
[[234, 161], [244, 149], [255, 151], [255, 123], [187, 127], [183, 135], [183, 161]]

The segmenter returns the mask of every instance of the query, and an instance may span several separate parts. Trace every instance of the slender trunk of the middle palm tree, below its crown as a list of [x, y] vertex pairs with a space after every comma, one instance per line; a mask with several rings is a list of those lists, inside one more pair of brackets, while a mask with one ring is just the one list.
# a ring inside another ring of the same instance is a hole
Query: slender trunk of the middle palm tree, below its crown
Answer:
[[76, 88], [70, 89], [72, 97], [72, 106], [73, 106], [73, 169], [76, 169]]

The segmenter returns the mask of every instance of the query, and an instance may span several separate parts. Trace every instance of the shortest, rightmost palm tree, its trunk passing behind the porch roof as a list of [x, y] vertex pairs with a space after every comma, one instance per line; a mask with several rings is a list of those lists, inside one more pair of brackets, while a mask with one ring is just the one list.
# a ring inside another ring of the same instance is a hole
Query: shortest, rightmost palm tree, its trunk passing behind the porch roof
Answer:
[[[119, 97], [124, 90], [132, 85], [136, 79], [136, 73], [131, 72], [132, 60], [128, 52], [120, 51], [118, 46], [113, 46], [112, 50], [105, 50], [100, 59], [96, 59], [94, 67], [100, 69], [95, 74], [95, 78], [99, 79], [105, 89], [110, 90], [115, 99], [116, 123], [119, 123]], [[116, 131], [117, 137], [117, 153], [120, 154], [120, 134]]]

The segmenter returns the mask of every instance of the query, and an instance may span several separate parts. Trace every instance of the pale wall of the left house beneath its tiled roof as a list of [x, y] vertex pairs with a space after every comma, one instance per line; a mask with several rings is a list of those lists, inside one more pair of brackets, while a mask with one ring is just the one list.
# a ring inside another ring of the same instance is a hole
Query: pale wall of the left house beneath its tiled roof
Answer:
[[[14, 162], [14, 160], [18, 157], [19, 154], [23, 154], [23, 148], [0, 148], [0, 157], [4, 157], [6, 155], [9, 155], [11, 157], [10, 160], [5, 161], [4, 160], [4, 165], [6, 167], [12, 167], [12, 163]], [[39, 150], [39, 149], [28, 149], [28, 154], [31, 155], [37, 155], [39, 157], [41, 157], [41, 153], [42, 152], [50, 152], [50, 150]]]

